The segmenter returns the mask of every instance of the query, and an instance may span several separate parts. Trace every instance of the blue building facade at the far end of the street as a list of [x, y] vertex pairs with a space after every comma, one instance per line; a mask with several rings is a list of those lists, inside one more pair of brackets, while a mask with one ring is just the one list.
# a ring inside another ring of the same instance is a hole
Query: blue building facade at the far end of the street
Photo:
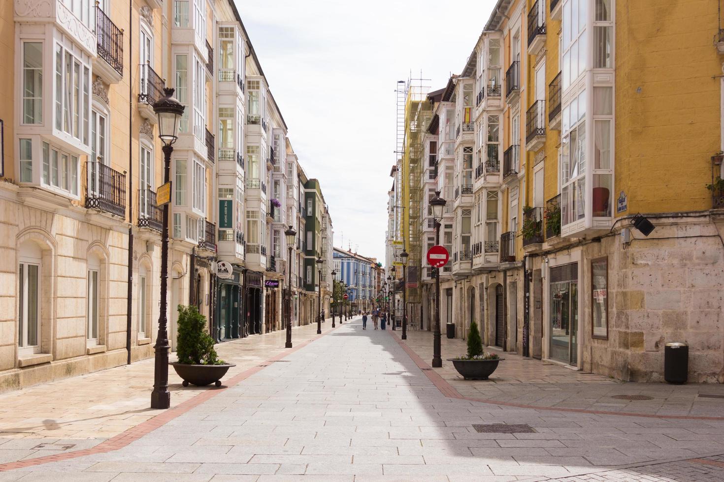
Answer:
[[348, 301], [352, 309], [371, 310], [375, 295], [372, 270], [376, 262], [340, 248], [334, 248], [333, 256], [334, 271], [337, 272], [334, 279], [350, 288]]

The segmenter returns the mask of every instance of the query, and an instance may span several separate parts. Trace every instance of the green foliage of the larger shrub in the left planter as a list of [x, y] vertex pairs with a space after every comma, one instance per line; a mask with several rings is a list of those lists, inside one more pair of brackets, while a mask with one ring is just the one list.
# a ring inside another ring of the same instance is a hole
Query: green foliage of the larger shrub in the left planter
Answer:
[[179, 363], [188, 365], [223, 365], [214, 350], [214, 339], [206, 332], [206, 318], [195, 306], [178, 306], [176, 354]]

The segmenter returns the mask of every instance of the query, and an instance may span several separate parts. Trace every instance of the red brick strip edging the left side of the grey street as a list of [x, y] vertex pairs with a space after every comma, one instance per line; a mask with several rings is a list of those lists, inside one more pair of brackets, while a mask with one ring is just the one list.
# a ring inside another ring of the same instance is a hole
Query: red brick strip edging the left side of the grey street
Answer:
[[44, 457], [35, 457], [33, 459], [18, 460], [17, 462], [0, 464], [0, 472], [4, 472], [6, 470], [13, 470], [16, 468], [31, 467], [33, 465], [41, 465], [50, 462], [61, 462], [62, 460], [75, 459], [77, 457], [84, 457], [85, 455], [102, 454], [105, 452], [113, 452], [114, 450], [122, 449], [131, 442], [135, 442], [136, 440], [140, 439], [142, 436], [150, 434], [152, 431], [158, 429], [160, 426], [164, 426], [166, 423], [169, 423], [169, 421], [172, 421], [174, 418], [183, 415], [184, 413], [188, 412], [192, 408], [197, 407], [198, 405], [201, 405], [202, 403], [206, 402], [206, 400], [209, 400], [211, 397], [219, 395], [219, 393], [227, 390], [227, 388], [233, 387], [239, 382], [243, 382], [245, 379], [248, 379], [249, 376], [252, 376], [258, 371], [263, 370], [264, 368], [266, 368], [266, 366], [269, 366], [271, 362], [285, 358], [285, 356], [306, 347], [306, 345], [312, 343], [314, 340], [319, 340], [319, 338], [327, 335], [327, 333], [331, 331], [332, 330], [329, 330], [328, 332], [321, 335], [314, 335], [314, 337], [312, 337], [310, 340], [301, 342], [298, 345], [295, 345], [294, 348], [284, 350], [277, 356], [273, 356], [266, 361], [260, 362], [257, 366], [253, 366], [251, 369], [247, 369], [245, 371], [242, 371], [240, 374], [232, 376], [232, 378], [228, 379], [222, 387], [212, 388], [206, 390], [205, 392], [201, 392], [195, 397], [190, 398], [183, 403], [180, 403], [174, 408], [169, 408], [165, 412], [159, 413], [159, 415], [150, 418], [145, 422], [139, 423], [137, 426], [132, 427], [131, 429], [128, 429], [121, 434], [113, 436], [110, 439], [105, 440], [104, 442], [101, 442], [100, 444], [96, 445], [96, 447], [74, 450], [72, 452], [66, 452], [64, 454], [46, 455]]

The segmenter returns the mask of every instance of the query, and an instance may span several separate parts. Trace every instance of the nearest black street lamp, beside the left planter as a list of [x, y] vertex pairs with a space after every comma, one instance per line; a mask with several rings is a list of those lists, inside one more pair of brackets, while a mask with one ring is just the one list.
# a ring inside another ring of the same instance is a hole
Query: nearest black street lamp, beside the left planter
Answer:
[[[179, 119], [185, 106], [173, 97], [174, 90], [164, 88], [164, 96], [153, 104], [153, 112], [159, 116], [159, 139], [164, 143], [164, 184], [171, 177], [171, 152], [176, 142]], [[170, 188], [169, 188], [170, 191]], [[153, 369], [153, 392], [151, 392], [151, 408], [169, 408], [169, 332], [167, 309], [167, 291], [169, 280], [169, 202], [164, 204], [164, 222], [161, 228], [161, 312], [159, 313], [159, 332], [156, 335], [156, 365]]]

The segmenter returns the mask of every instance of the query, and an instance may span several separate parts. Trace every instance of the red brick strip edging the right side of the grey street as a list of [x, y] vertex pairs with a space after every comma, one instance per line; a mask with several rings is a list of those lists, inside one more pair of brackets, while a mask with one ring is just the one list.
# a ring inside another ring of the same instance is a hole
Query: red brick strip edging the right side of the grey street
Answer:
[[[504, 405], [506, 407], [516, 407], [516, 408], [531, 408], [533, 410], [551, 410], [554, 412], [573, 412], [573, 413], [594, 413], [595, 415], [622, 415], [627, 417], [646, 417], [646, 418], [675, 418], [675, 419], [681, 419], [681, 420], [724, 420], [724, 417], [695, 417], [695, 416], [686, 416], [686, 415], [654, 415], [651, 413], [628, 413], [628, 412], [611, 412], [611, 411], [605, 411], [605, 410], [585, 410], [584, 408], [556, 408], [556, 407], [538, 407], [535, 405], [523, 405], [521, 403], [510, 403], [510, 402], [499, 402], [497, 400], [488, 400], [485, 398], [474, 398], [474, 397], [466, 397], [464, 395], [461, 395], [458, 390], [455, 390], [455, 388], [452, 387], [451, 384], [447, 383], [447, 380], [442, 378], [437, 371], [434, 371], [431, 366], [429, 366], [427, 363], [423, 361], [423, 359], [415, 353], [415, 351], [408, 347], [407, 344], [403, 343], [403, 340], [400, 339], [399, 336], [397, 336], [397, 333], [395, 331], [390, 330], [390, 335], [392, 338], [397, 342], [400, 347], [405, 350], [405, 353], [410, 356], [412, 361], [415, 362], [415, 364], [418, 366], [419, 369], [422, 370], [422, 372], [427, 376], [427, 378], [430, 379], [430, 382], [432, 382], [435, 387], [437, 387], [437, 390], [442, 392], [442, 395], [445, 395], [447, 398], [458, 398], [460, 400], [468, 400], [470, 402], [482, 402], [482, 403], [492, 403], [493, 405]], [[711, 462], [707, 460], [707, 463]], [[720, 462], [717, 462], [720, 463]]]

